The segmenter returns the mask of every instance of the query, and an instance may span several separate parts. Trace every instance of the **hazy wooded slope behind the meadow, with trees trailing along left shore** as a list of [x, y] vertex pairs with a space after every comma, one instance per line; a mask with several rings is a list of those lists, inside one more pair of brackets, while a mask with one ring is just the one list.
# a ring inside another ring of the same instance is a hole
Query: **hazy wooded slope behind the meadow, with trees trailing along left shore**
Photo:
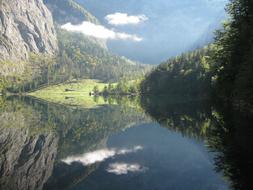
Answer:
[[64, 83], [73, 79], [98, 79], [116, 82], [122, 77], [133, 79], [144, 75], [151, 66], [137, 64], [124, 57], [112, 55], [83, 34], [57, 29], [59, 54], [54, 60], [34, 56], [32, 65], [43, 62], [43, 72], [33, 80], [12, 88], [11, 91], [31, 91], [49, 85]]

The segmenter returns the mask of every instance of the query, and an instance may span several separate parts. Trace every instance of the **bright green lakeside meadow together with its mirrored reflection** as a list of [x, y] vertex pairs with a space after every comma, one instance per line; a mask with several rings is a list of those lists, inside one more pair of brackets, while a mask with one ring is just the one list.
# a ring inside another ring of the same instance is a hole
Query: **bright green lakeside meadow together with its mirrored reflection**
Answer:
[[53, 103], [93, 108], [107, 103], [103, 97], [91, 97], [89, 93], [94, 86], [97, 86], [99, 90], [103, 90], [106, 85], [106, 83], [98, 80], [78, 80], [52, 85], [29, 95]]

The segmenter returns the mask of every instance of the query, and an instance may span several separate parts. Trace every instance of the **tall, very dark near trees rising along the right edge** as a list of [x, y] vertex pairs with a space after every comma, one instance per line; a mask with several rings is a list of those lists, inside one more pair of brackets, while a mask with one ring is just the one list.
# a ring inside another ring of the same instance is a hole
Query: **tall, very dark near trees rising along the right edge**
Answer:
[[237, 106], [253, 106], [253, 1], [232, 0], [230, 19], [217, 32], [217, 94]]

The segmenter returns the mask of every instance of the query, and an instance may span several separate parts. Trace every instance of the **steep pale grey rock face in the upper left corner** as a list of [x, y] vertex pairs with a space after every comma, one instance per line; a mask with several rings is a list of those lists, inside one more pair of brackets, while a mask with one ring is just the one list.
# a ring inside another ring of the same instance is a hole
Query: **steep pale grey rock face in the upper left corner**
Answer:
[[0, 1], [0, 60], [25, 60], [29, 52], [57, 51], [50, 11], [42, 0]]

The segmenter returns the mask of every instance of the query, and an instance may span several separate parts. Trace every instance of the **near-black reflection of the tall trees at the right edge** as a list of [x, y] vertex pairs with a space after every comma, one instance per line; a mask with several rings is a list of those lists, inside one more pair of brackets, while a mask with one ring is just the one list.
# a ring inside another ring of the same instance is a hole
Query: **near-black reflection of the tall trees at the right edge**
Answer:
[[216, 153], [216, 171], [229, 179], [233, 189], [253, 189], [252, 117], [232, 109], [217, 108], [215, 127], [207, 137], [208, 148]]

